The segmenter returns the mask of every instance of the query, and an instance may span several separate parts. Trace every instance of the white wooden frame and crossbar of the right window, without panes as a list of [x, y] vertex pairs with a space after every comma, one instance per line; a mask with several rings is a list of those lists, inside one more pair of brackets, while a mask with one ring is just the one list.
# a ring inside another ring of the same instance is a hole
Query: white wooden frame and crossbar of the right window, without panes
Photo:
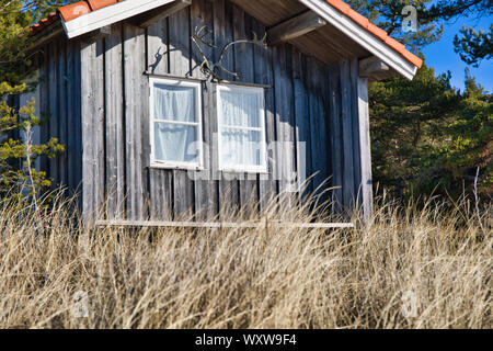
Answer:
[[[221, 92], [222, 91], [248, 91], [252, 93], [255, 92], [259, 97], [259, 118], [260, 127], [242, 127], [242, 126], [223, 126], [222, 121], [222, 104], [221, 104]], [[218, 124], [218, 166], [220, 171], [225, 172], [246, 172], [246, 173], [267, 173], [267, 143], [266, 143], [266, 126], [265, 126], [265, 89], [263, 87], [248, 87], [240, 84], [217, 84], [217, 124]], [[262, 165], [223, 165], [221, 160], [222, 155], [222, 131], [227, 129], [240, 129], [240, 131], [252, 131], [261, 132], [261, 160]]]

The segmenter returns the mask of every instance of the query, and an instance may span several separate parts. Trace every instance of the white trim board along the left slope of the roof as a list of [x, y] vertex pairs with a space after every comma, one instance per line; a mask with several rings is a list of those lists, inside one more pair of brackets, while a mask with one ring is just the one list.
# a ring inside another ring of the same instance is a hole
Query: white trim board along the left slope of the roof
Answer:
[[61, 23], [68, 38], [71, 39], [173, 1], [174, 0], [127, 0], [82, 14], [68, 22], [65, 22], [64, 19], [61, 19]]

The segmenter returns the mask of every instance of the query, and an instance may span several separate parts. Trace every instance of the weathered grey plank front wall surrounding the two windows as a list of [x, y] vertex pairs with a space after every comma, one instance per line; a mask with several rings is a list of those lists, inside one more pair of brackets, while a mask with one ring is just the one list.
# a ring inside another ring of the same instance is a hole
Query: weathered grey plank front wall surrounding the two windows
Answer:
[[[203, 25], [218, 47], [205, 49], [215, 59], [223, 45], [251, 37], [252, 31], [262, 36], [266, 30], [229, 1], [194, 0], [147, 30], [119, 23], [111, 35], [81, 44], [85, 217], [205, 220], [221, 207], [237, 212], [260, 203], [260, 208], [252, 208], [262, 210], [270, 195], [293, 194], [293, 174], [301, 171], [312, 177], [306, 193], [317, 191], [321, 200], [334, 200], [339, 210], [354, 204], [362, 183], [358, 61], [345, 59], [329, 67], [289, 44], [267, 50], [236, 46], [223, 60], [226, 68], [240, 72], [241, 82], [272, 87], [265, 91], [267, 143], [287, 143], [270, 149], [268, 174], [217, 174], [214, 147], [203, 172], [149, 167], [145, 72], [204, 78], [191, 41], [194, 29]], [[209, 82], [204, 86], [204, 140], [214, 146], [215, 89]], [[339, 189], [323, 193], [330, 186]]]

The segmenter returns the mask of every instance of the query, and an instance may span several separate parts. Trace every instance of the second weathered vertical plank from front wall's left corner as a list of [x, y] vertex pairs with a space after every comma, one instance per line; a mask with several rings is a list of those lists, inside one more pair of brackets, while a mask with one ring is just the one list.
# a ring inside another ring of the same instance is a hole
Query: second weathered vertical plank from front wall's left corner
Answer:
[[123, 105], [122, 25], [114, 24], [105, 38], [106, 112], [106, 214], [108, 219], [124, 217], [125, 135]]

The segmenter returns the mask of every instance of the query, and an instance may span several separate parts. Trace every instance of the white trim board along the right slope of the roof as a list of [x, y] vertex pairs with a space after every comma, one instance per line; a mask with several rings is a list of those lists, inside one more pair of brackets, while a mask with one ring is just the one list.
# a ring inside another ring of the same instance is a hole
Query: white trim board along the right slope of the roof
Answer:
[[347, 15], [341, 13], [337, 9], [334, 9], [330, 3], [323, 0], [299, 0], [299, 2], [318, 13], [330, 24], [380, 58], [403, 77], [412, 80], [416, 75], [416, 66], [389, 47], [389, 45], [383, 43], [380, 38], [370, 34]]

